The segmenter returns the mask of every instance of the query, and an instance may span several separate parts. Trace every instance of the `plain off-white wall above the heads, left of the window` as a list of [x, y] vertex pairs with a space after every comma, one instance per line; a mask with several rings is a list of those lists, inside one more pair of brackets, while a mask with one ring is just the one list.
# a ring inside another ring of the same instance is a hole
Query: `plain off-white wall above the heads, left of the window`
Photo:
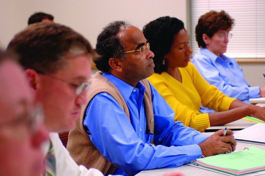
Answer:
[[84, 35], [93, 47], [102, 27], [126, 20], [140, 29], [160, 16], [175, 16], [186, 24], [186, 0], [0, 0], [0, 46], [6, 47], [27, 26], [28, 17], [39, 11], [50, 13], [55, 22]]

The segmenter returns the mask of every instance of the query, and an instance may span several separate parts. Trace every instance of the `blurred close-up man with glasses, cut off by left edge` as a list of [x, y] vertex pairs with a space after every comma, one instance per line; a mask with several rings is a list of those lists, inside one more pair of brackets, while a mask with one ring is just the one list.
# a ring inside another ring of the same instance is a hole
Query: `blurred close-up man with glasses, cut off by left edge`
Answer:
[[0, 175], [41, 175], [48, 130], [35, 113], [21, 66], [1, 50], [0, 82]]

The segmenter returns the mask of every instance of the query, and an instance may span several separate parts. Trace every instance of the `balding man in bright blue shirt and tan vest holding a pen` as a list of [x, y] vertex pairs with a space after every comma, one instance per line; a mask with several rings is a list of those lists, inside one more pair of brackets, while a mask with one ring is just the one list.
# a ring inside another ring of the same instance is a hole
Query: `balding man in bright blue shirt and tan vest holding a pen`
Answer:
[[140, 29], [123, 21], [98, 36], [100, 57], [93, 61], [102, 72], [91, 79], [88, 103], [67, 144], [77, 163], [104, 174], [135, 175], [235, 150], [231, 130], [209, 137], [174, 122], [174, 111], [146, 79], [154, 73], [149, 45]]

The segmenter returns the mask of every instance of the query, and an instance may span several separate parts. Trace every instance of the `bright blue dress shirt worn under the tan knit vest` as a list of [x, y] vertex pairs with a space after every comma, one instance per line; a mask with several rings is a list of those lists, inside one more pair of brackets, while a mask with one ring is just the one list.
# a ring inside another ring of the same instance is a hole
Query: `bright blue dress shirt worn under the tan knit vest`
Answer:
[[[139, 82], [134, 88], [110, 73], [102, 76], [120, 91], [131, 120], [106, 92], [96, 95], [86, 109], [84, 128], [100, 153], [117, 166], [113, 174], [178, 167], [202, 155], [198, 144], [209, 136], [175, 122], [174, 111], [152, 85], [154, 134], [146, 131], [143, 84]], [[150, 143], [152, 138], [156, 146]]]

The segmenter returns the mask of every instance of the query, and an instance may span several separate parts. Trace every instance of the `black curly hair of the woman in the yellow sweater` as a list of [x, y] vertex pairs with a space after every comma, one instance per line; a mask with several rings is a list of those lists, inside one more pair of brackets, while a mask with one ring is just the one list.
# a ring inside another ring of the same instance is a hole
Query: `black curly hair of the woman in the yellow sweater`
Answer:
[[184, 23], [175, 17], [163, 16], [149, 22], [143, 27], [143, 34], [150, 43], [150, 49], [154, 52], [154, 72], [167, 71], [168, 64], [163, 60], [170, 51], [174, 42], [174, 36], [184, 28]]

